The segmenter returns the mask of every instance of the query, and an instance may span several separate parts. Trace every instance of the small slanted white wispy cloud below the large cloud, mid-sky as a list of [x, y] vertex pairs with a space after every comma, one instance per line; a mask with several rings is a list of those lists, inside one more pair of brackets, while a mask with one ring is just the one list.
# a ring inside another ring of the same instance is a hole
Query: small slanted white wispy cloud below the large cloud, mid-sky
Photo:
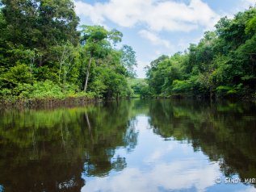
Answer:
[[149, 40], [152, 44], [154, 45], [160, 45], [160, 46], [164, 46], [166, 48], [170, 48], [170, 42], [168, 40], [162, 40], [158, 35], [156, 35], [155, 33], [151, 32], [151, 31], [147, 31], [147, 30], [141, 30], [139, 31], [139, 34]]

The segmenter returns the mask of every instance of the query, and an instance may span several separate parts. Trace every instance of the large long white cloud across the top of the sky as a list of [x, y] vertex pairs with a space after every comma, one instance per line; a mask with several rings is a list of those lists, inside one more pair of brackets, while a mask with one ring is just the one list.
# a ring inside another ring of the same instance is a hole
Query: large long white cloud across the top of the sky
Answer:
[[191, 31], [199, 26], [212, 27], [219, 16], [201, 0], [189, 4], [173, 0], [110, 0], [94, 5], [75, 1], [79, 16], [90, 18], [94, 24], [106, 20], [122, 27], [145, 24], [150, 31]]

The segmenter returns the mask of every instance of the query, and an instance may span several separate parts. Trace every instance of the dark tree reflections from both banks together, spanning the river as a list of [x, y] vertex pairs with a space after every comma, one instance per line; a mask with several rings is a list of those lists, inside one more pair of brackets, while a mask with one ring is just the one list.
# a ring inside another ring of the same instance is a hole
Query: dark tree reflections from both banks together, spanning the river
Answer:
[[125, 100], [51, 111], [0, 112], [0, 191], [80, 191], [86, 177], [129, 165], [115, 157], [138, 144], [136, 116], [153, 133], [181, 140], [219, 163], [227, 177], [256, 177], [254, 103]]

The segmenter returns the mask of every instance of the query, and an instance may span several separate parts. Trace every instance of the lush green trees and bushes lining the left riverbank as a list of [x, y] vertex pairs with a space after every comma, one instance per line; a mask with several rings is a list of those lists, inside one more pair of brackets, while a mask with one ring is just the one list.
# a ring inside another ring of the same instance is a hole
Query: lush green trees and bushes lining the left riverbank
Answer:
[[135, 52], [79, 25], [71, 0], [0, 1], [0, 98], [126, 97]]

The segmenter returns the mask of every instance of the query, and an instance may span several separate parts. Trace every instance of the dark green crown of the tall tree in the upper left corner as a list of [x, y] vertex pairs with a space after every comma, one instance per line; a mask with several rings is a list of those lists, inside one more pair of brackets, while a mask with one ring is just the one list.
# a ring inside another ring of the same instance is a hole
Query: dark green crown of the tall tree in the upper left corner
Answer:
[[0, 52], [9, 58], [9, 65], [19, 59], [13, 61], [15, 56], [8, 49], [36, 48], [40, 52], [36, 62], [42, 66], [51, 62], [52, 46], [66, 41], [76, 45], [79, 41], [79, 19], [71, 0], [2, 0], [2, 19], [6, 26], [1, 28], [5, 41]]

